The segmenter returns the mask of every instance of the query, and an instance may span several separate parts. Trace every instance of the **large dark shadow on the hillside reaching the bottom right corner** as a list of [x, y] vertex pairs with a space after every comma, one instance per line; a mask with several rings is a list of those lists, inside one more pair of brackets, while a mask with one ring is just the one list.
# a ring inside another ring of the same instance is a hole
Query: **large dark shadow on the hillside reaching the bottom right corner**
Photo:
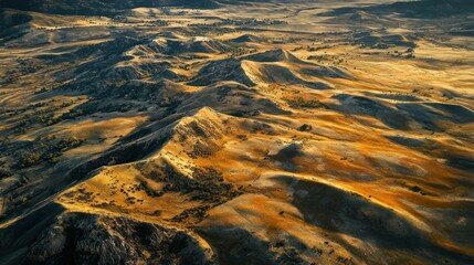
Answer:
[[422, 259], [440, 261], [444, 257], [455, 264], [474, 262], [471, 256], [434, 244], [429, 235], [393, 210], [358, 194], [292, 177], [275, 179], [293, 188], [293, 204], [305, 221], [315, 226], [360, 239], [380, 248], [409, 252]]

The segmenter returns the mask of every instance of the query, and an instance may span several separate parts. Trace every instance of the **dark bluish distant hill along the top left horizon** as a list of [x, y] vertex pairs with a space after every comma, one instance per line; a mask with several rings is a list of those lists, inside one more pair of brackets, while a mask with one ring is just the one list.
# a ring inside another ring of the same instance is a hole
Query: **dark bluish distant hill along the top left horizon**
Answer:
[[106, 14], [139, 7], [218, 7], [213, 0], [0, 0], [0, 8], [57, 14]]

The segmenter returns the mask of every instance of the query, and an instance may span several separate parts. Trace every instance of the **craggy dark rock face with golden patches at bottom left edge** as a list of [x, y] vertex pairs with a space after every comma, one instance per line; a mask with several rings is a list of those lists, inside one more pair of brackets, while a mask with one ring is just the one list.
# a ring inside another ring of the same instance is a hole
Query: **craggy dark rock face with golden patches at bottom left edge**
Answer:
[[200, 241], [127, 218], [67, 212], [42, 232], [24, 264], [214, 264]]

